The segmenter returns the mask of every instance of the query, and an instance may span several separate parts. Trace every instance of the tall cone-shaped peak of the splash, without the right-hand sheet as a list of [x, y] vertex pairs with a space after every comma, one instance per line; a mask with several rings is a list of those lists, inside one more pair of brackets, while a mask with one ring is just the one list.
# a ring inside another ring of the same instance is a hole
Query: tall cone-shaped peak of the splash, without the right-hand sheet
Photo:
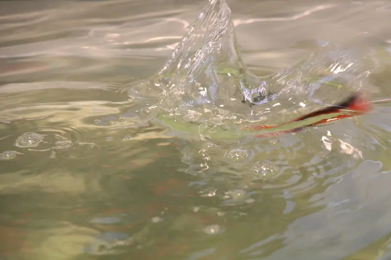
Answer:
[[274, 98], [242, 63], [224, 0], [210, 0], [157, 76], [129, 94], [151, 97], [153, 89], [161, 91], [158, 105], [152, 106], [156, 113], [199, 122], [221, 122], [236, 113], [250, 116], [248, 104]]

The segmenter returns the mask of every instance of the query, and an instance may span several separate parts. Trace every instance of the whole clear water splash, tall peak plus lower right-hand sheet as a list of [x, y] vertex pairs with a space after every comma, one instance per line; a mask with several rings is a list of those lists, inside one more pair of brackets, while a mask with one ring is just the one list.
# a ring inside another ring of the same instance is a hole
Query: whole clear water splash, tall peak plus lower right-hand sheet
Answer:
[[[286, 120], [361, 89], [369, 71], [354, 58], [352, 50], [326, 45], [291, 69], [257, 77], [240, 59], [230, 8], [210, 0], [164, 67], [131, 85], [129, 95], [148, 100], [137, 108], [141, 116], [174, 130], [199, 134], [214, 127], [215, 136], [242, 136], [235, 127], [243, 123]], [[227, 125], [232, 129], [220, 129]]]

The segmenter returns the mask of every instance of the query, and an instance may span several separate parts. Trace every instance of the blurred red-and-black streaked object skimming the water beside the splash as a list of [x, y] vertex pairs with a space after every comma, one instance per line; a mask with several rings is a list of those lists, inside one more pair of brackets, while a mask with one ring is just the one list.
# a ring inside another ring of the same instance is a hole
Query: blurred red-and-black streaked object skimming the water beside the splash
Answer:
[[[381, 101], [383, 101], [383, 100], [381, 100]], [[320, 117], [320, 116], [324, 117], [326, 115], [330, 115], [329, 118], [326, 118], [326, 119], [324, 118], [324, 119], [318, 120], [313, 123], [307, 123], [307, 124], [304, 124], [299, 127], [294, 127], [293, 129], [266, 133], [266, 134], [262, 134], [262, 135], [257, 135], [256, 137], [272, 137], [272, 136], [281, 135], [284, 133], [297, 133], [299, 131], [304, 130], [304, 128], [320, 126], [320, 125], [324, 125], [324, 124], [327, 124], [327, 123], [330, 123], [330, 122], [333, 122], [336, 120], [341, 120], [341, 119], [345, 119], [345, 118], [351, 118], [351, 117], [363, 115], [372, 109], [372, 103], [374, 103], [374, 102], [376, 102], [376, 101], [367, 102], [363, 98], [362, 93], [353, 93], [346, 100], [340, 102], [339, 104], [327, 106], [325, 108], [316, 110], [316, 111], [311, 112], [309, 114], [306, 114], [302, 117], [299, 117], [295, 120], [291, 120], [291, 121], [288, 121], [288, 122], [285, 122], [285, 123], [282, 123], [279, 125], [250, 125], [250, 126], [243, 128], [242, 130], [260, 131], [263, 129], [273, 129], [273, 128], [282, 127], [284, 125], [288, 125], [291, 123], [295, 123], [295, 122], [300, 122], [300, 121], [305, 121], [305, 120], [309, 120], [309, 119]]]

